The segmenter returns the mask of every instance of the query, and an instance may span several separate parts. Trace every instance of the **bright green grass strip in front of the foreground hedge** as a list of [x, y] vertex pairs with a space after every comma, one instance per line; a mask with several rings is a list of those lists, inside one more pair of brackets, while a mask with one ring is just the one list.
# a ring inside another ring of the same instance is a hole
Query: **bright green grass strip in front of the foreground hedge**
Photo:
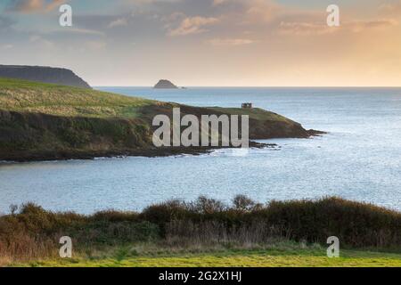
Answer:
[[339, 258], [326, 256], [325, 248], [275, 245], [264, 249], [226, 249], [210, 252], [138, 254], [135, 247], [113, 254], [48, 259], [11, 266], [29, 267], [400, 267], [401, 254], [341, 250]]

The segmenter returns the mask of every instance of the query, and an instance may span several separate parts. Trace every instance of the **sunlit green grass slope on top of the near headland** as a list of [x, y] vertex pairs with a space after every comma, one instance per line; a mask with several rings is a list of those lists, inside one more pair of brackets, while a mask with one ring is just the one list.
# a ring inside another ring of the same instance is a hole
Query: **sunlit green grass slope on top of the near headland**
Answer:
[[135, 118], [157, 102], [92, 89], [0, 78], [0, 110], [89, 118]]

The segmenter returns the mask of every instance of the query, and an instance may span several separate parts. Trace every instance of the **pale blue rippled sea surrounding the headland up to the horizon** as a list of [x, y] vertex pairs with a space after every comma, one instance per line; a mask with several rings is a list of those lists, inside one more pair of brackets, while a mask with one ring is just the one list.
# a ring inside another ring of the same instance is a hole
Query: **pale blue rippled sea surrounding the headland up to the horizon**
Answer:
[[261, 141], [278, 146], [241, 155], [228, 149], [168, 158], [3, 162], [0, 213], [27, 202], [81, 214], [140, 211], [200, 196], [228, 204], [238, 194], [261, 203], [336, 196], [401, 211], [401, 88], [95, 88], [194, 106], [252, 102], [327, 134]]

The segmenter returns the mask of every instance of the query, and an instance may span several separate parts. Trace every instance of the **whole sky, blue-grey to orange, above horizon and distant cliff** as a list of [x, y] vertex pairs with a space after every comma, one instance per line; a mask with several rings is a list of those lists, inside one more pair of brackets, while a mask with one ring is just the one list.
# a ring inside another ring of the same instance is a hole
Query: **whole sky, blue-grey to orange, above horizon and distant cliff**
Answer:
[[1, 0], [0, 64], [95, 86], [399, 86], [401, 0]]

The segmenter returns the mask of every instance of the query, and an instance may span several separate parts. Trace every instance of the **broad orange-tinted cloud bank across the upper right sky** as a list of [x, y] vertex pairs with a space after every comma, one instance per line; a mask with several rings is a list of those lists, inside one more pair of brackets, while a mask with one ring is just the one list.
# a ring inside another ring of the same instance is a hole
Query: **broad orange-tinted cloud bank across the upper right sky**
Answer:
[[[398, 0], [382, 4], [380, 11], [383, 14], [379, 14], [378, 19], [355, 20], [342, 16], [337, 28], [327, 26], [325, 9], [302, 9], [274, 0], [213, 0], [212, 6], [222, 12], [218, 19], [225, 30], [235, 31], [236, 34], [248, 30], [254, 35], [270, 33], [289, 37], [382, 30], [398, 25], [396, 15], [401, 15], [401, 0]], [[384, 12], [392, 19], [387, 19]]]

